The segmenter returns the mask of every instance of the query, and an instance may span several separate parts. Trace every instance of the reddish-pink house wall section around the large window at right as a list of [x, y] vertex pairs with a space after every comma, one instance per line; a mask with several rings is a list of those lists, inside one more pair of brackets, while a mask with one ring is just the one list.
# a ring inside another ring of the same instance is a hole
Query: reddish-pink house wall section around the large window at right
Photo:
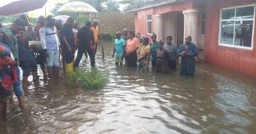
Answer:
[[[219, 46], [220, 9], [238, 5], [255, 4], [255, 0], [211, 0], [207, 3], [205, 25], [205, 58], [229, 69], [256, 76], [256, 25], [254, 24], [253, 50]], [[256, 13], [255, 13], [256, 14]], [[254, 20], [256, 23], [256, 20]]]

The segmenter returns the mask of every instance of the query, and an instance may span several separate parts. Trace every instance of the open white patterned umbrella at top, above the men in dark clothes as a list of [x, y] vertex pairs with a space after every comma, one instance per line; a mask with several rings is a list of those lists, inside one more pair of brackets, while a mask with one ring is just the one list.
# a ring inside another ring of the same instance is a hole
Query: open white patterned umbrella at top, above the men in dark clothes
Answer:
[[57, 12], [70, 12], [70, 13], [97, 13], [98, 11], [88, 3], [75, 1], [66, 3], [60, 7]]

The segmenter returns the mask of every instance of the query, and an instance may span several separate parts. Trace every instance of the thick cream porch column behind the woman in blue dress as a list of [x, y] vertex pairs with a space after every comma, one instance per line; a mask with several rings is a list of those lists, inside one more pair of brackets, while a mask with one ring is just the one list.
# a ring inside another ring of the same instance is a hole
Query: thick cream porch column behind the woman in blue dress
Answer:
[[192, 36], [192, 42], [198, 44], [198, 13], [197, 8], [183, 10], [184, 14], [184, 38], [186, 35]]

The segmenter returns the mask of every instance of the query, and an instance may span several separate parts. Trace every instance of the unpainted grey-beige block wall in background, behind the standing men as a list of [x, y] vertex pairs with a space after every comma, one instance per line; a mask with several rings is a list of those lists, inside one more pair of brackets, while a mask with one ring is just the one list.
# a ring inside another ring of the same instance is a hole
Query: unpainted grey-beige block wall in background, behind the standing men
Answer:
[[97, 16], [91, 14], [91, 21], [98, 17], [100, 32], [104, 35], [113, 34], [117, 31], [123, 31], [123, 28], [135, 30], [135, 14], [123, 12], [99, 12]]

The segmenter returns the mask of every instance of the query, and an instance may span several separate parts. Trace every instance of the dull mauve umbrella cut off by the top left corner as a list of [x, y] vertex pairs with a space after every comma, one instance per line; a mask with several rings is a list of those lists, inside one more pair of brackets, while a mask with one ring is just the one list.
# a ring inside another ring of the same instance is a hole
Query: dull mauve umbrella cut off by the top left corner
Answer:
[[0, 15], [9, 16], [42, 8], [47, 0], [17, 0], [0, 7]]

